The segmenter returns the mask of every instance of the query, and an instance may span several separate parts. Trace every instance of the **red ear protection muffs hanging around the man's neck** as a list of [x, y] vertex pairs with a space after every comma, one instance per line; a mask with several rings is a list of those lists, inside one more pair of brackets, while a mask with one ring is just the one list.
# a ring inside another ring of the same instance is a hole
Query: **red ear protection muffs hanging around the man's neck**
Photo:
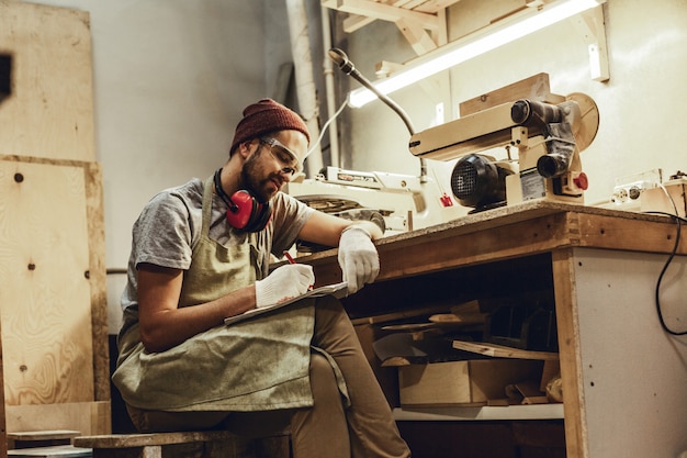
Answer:
[[252, 194], [245, 190], [236, 191], [232, 197], [222, 189], [219, 174], [222, 169], [215, 171], [215, 192], [227, 204], [227, 223], [234, 228], [245, 232], [260, 232], [272, 217], [270, 203], [260, 203]]

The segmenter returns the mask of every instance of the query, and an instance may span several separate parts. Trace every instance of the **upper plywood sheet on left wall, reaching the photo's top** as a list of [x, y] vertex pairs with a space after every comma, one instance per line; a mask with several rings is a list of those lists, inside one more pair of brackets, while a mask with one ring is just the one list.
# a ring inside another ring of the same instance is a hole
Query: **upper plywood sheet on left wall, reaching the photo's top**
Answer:
[[94, 160], [88, 12], [0, 0], [0, 52], [13, 57], [0, 154]]

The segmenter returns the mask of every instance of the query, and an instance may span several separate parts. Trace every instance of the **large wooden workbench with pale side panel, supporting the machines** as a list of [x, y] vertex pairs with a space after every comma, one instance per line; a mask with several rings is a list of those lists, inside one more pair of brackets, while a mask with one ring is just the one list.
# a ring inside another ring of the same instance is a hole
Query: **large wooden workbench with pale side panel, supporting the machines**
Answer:
[[[488, 294], [550, 294], [567, 457], [674, 458], [687, 450], [687, 337], [661, 327], [654, 293], [676, 235], [662, 215], [552, 202], [491, 210], [379, 241], [376, 282], [345, 305], [360, 319]], [[687, 236], [677, 254], [660, 298], [667, 324], [685, 329]], [[340, 281], [335, 250], [302, 259], [318, 284]], [[509, 417], [519, 407], [504, 409]], [[520, 417], [538, 417], [537, 406]]]

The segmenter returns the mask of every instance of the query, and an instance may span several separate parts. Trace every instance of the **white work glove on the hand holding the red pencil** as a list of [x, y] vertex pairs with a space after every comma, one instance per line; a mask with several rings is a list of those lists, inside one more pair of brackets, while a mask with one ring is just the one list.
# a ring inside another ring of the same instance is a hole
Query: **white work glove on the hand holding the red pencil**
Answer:
[[315, 283], [313, 266], [286, 264], [263, 280], [256, 281], [256, 308], [277, 304], [304, 294]]

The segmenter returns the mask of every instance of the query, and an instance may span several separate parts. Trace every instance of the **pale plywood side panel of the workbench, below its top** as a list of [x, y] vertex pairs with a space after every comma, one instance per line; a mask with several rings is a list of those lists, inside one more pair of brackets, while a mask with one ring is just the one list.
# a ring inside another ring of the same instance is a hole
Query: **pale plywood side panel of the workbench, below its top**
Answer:
[[[656, 279], [666, 256], [586, 248], [574, 254], [585, 456], [678, 456], [687, 449], [687, 339], [664, 332], [656, 313]], [[675, 256], [660, 288], [663, 317], [674, 331], [687, 327], [686, 271], [687, 257]]]

